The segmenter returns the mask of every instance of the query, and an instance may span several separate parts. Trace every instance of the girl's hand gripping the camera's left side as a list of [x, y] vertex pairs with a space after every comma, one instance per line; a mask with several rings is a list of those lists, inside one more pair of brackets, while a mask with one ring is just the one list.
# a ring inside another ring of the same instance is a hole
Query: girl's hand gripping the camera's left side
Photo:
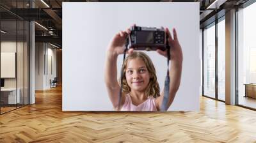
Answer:
[[[125, 43], [129, 34], [131, 33], [130, 28], [126, 29], [126, 31], [120, 31], [116, 33], [108, 46], [108, 52], [111, 54], [118, 56], [119, 54], [124, 54]], [[129, 49], [127, 52], [131, 53], [133, 49]]]

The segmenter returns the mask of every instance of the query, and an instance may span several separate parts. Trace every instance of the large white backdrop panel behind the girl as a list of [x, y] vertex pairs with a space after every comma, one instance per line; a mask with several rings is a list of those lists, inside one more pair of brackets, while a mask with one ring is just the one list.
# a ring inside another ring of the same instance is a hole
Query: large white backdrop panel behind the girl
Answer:
[[[106, 49], [114, 34], [132, 24], [175, 27], [184, 61], [180, 88], [169, 110], [199, 110], [199, 3], [73, 2], [63, 3], [63, 111], [113, 110], [104, 84]], [[166, 59], [156, 52], [147, 54], [163, 90]], [[118, 70], [121, 66], [119, 56]]]

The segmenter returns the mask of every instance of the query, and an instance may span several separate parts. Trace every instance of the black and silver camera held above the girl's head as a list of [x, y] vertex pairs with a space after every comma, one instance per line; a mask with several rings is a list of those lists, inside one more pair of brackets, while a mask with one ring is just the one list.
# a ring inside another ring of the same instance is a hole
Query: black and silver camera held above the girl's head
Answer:
[[166, 50], [166, 33], [163, 28], [132, 26], [129, 49]]

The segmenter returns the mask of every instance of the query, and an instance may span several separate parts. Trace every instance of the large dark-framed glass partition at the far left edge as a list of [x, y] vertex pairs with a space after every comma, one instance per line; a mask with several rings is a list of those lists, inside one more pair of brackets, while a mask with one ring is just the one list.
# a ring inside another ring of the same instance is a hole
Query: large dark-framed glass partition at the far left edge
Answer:
[[[15, 8], [28, 8], [29, 1], [0, 1]], [[29, 103], [29, 22], [0, 7], [0, 114]]]

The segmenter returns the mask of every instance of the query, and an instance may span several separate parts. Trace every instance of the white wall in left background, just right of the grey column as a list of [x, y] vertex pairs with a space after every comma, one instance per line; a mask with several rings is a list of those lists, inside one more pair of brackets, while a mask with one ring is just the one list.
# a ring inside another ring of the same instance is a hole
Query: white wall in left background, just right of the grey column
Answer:
[[[35, 47], [35, 89], [49, 89], [50, 79], [56, 77], [56, 49], [53, 49], [54, 47], [49, 43], [36, 43]], [[49, 62], [50, 60], [52, 62]], [[52, 72], [49, 66], [52, 67]]]

